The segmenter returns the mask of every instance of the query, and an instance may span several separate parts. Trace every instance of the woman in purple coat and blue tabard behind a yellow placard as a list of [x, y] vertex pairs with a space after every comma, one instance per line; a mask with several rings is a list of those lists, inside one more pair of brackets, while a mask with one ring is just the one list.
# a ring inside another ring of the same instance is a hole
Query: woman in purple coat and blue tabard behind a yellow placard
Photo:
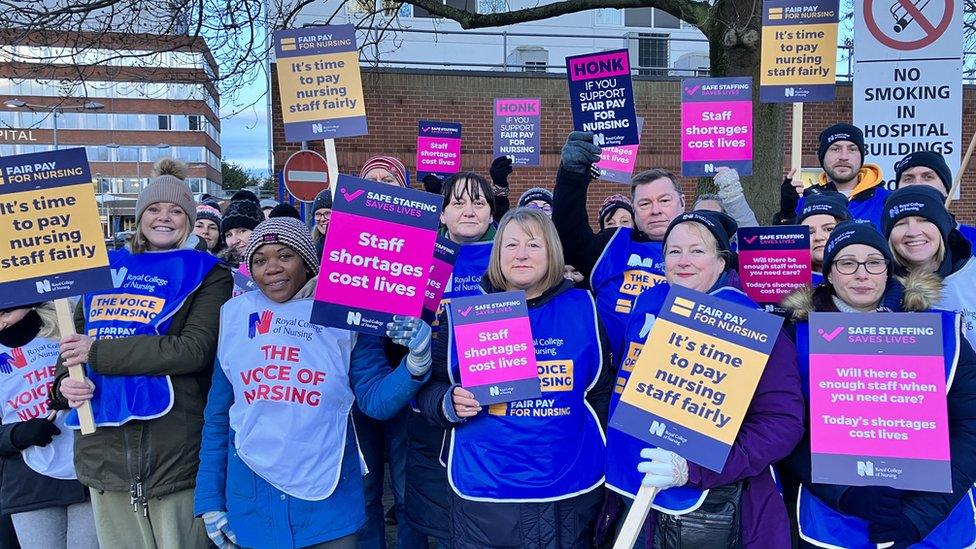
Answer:
[[[681, 214], [671, 222], [664, 237], [667, 283], [644, 292], [634, 304], [611, 410], [672, 284], [758, 308], [733, 276], [728, 235], [736, 229], [731, 217], [710, 211]], [[641, 484], [661, 490], [640, 547], [789, 547], [789, 518], [770, 465], [788, 455], [802, 434], [796, 350], [780, 332], [721, 472], [667, 450], [647, 448], [612, 429], [607, 438], [607, 485], [630, 498]]]

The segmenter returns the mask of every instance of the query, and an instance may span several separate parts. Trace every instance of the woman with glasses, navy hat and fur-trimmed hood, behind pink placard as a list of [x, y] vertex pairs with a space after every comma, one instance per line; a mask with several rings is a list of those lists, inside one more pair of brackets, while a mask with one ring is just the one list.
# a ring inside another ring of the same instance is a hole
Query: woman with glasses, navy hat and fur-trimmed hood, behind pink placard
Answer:
[[[825, 283], [797, 290], [783, 301], [796, 320], [793, 329], [805, 392], [809, 392], [809, 313], [936, 310], [932, 306], [942, 289], [938, 277], [918, 272], [899, 280], [892, 276], [892, 264], [888, 245], [873, 226], [843, 222], [827, 241]], [[808, 432], [778, 466], [788, 499], [797, 499], [802, 546], [874, 549], [876, 544], [893, 542], [895, 548], [935, 549], [976, 544], [976, 355], [962, 337], [957, 313], [943, 312], [942, 325], [952, 493], [815, 484]]]

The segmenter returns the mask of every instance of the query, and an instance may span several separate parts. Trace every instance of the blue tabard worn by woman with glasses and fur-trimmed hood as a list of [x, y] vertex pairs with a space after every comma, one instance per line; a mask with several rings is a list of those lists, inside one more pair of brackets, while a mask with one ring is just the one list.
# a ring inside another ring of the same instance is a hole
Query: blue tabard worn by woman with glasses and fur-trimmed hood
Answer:
[[[960, 316], [957, 313], [942, 313], [942, 349], [945, 356], [946, 391], [952, 387], [952, 379], [959, 360]], [[800, 367], [800, 381], [803, 394], [810, 394], [810, 333], [806, 322], [796, 325], [797, 362]], [[944, 549], [949, 547], [973, 547], [976, 544], [976, 491], [969, 490], [965, 497], [934, 530], [922, 541], [912, 545], [924, 549]], [[868, 541], [867, 522], [830, 507], [809, 490], [800, 486], [796, 504], [797, 522], [800, 537], [818, 547], [849, 549], [876, 549], [878, 546]]]

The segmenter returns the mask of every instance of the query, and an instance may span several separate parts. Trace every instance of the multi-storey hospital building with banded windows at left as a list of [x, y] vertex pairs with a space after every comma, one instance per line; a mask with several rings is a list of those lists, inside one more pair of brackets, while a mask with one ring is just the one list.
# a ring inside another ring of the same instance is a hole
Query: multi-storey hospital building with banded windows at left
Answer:
[[160, 157], [220, 193], [216, 73], [201, 38], [0, 31], [0, 155], [85, 147], [106, 234], [131, 229]]

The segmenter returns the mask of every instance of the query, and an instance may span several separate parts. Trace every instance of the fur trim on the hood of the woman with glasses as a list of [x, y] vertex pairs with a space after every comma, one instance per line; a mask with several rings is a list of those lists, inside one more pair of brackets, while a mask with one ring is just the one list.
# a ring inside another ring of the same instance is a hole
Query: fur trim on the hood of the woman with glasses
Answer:
[[[914, 272], [891, 277], [879, 310], [893, 312], [927, 311], [942, 299], [945, 283], [933, 273]], [[787, 294], [781, 305], [792, 320], [805, 320], [814, 311], [836, 312], [831, 296], [833, 287], [826, 281], [817, 286], [803, 286]]]

